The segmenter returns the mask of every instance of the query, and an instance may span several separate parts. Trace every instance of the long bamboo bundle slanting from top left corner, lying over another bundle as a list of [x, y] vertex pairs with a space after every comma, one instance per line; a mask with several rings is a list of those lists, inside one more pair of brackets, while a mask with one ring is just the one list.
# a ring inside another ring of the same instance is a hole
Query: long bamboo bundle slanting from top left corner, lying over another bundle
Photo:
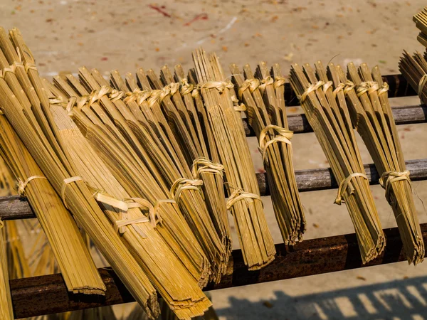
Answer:
[[17, 29], [12, 30], [10, 36], [9, 40], [4, 29], [1, 29], [0, 48], [9, 65], [14, 66], [6, 75], [15, 74], [19, 78], [20, 90], [26, 93], [27, 100], [19, 100], [19, 96], [11, 90], [16, 90], [16, 87], [11, 88], [4, 78], [0, 78], [1, 112], [61, 196], [65, 208], [70, 209], [147, 314], [157, 316], [159, 309], [154, 287], [65, 156], [31, 50], [26, 47]]

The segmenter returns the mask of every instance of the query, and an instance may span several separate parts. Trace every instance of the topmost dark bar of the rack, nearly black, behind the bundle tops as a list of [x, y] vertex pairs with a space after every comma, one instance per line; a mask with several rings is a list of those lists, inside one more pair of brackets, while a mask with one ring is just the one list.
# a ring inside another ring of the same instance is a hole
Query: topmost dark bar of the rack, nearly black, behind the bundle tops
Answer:
[[[408, 97], [417, 95], [403, 75], [384, 75], [383, 81], [389, 84], [389, 97]], [[290, 83], [285, 83], [285, 104], [288, 107], [300, 105]]]

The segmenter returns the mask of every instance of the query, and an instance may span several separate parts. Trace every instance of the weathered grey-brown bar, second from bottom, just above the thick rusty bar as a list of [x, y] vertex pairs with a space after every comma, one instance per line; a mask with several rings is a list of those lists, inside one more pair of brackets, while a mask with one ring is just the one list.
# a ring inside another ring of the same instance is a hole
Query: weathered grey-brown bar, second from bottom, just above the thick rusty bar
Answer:
[[[379, 183], [379, 174], [374, 164], [364, 166], [370, 184]], [[406, 169], [411, 171], [411, 180], [420, 181], [427, 179], [427, 159], [406, 161]], [[261, 196], [269, 196], [268, 181], [266, 174], [256, 174]], [[330, 168], [296, 170], [295, 178], [297, 180], [298, 190], [300, 192], [325, 190], [338, 188], [337, 181]], [[0, 197], [0, 218], [1, 220], [16, 220], [36, 218], [31, 210], [26, 198], [19, 196]]]

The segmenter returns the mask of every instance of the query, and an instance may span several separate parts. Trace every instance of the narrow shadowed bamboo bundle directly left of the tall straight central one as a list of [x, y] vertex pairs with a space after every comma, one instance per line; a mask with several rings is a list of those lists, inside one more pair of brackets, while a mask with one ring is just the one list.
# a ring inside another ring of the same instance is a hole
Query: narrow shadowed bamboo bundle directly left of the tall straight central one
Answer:
[[[138, 70], [137, 75], [139, 82], [147, 83], [147, 78], [144, 77], [142, 69]], [[149, 70], [147, 75], [149, 81], [145, 87], [148, 87], [151, 82], [152, 87], [156, 90], [170, 90], [169, 100], [162, 99], [162, 111], [164, 117], [167, 118], [167, 122], [172, 124], [173, 130], [169, 132], [173, 132], [179, 144], [179, 146], [174, 146], [174, 149], [176, 153], [183, 153], [186, 156], [187, 165], [192, 169], [193, 178], [203, 181], [202, 188], [206, 205], [209, 208], [216, 232], [226, 250], [225, 260], [223, 261], [223, 266], [226, 266], [228, 257], [231, 254], [231, 231], [223, 188], [223, 166], [219, 164], [216, 147], [209, 147], [209, 142], [212, 144], [213, 139], [207, 138], [206, 135], [211, 134], [211, 132], [204, 134], [202, 130], [199, 114], [191, 97], [194, 86], [190, 85], [185, 78], [181, 65], [176, 65], [175, 67], [175, 78], [166, 65], [162, 68], [161, 80], [163, 85], [166, 86], [164, 88], [160, 87], [160, 82], [157, 80], [153, 70]], [[174, 82], [175, 80], [176, 82]], [[129, 74], [127, 75], [127, 83], [128, 86], [132, 83]], [[132, 88], [130, 89], [132, 90]], [[174, 140], [172, 137], [170, 139]]]

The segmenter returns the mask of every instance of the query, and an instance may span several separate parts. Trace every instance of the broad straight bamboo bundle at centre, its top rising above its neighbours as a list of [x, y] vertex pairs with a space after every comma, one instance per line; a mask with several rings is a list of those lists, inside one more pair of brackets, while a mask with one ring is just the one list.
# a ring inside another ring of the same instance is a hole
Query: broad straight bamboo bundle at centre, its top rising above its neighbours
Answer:
[[223, 81], [216, 55], [208, 57], [203, 50], [197, 50], [193, 59], [208, 116], [209, 124], [205, 126], [211, 127], [226, 172], [227, 208], [235, 220], [246, 265], [249, 270], [259, 270], [274, 260], [275, 247], [263, 213], [240, 110], [234, 109], [233, 85]]

